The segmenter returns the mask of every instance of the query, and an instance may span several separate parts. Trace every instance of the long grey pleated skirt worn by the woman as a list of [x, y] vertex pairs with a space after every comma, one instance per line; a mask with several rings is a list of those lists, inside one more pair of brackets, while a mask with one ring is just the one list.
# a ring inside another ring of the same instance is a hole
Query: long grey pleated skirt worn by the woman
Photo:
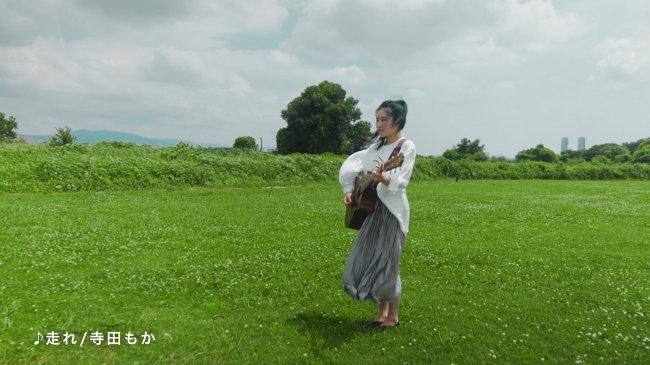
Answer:
[[343, 288], [356, 301], [399, 303], [399, 262], [405, 240], [399, 221], [377, 198], [354, 239], [343, 274]]

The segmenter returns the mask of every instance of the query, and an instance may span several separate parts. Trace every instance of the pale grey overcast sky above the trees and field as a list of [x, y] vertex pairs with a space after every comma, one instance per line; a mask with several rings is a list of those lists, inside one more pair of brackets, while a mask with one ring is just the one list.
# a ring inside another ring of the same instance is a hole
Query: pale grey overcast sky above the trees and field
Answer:
[[[514, 157], [650, 137], [648, 0], [0, 0], [0, 111], [56, 127], [275, 146], [337, 82], [362, 119], [401, 95], [418, 154]], [[373, 127], [374, 130], [374, 127]]]

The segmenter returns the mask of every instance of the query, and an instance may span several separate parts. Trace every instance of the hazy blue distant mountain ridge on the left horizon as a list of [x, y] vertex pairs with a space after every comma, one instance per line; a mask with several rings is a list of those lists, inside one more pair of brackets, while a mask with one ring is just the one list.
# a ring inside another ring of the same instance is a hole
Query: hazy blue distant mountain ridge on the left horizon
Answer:
[[[174, 147], [180, 139], [160, 139], [160, 138], [147, 138], [142, 137], [137, 134], [131, 134], [126, 132], [115, 132], [115, 131], [89, 131], [86, 129], [80, 129], [78, 131], [73, 131], [77, 137], [77, 143], [97, 143], [97, 142], [110, 142], [110, 141], [121, 141], [121, 142], [135, 142], [137, 144], [148, 144], [148, 145], [157, 145], [163, 147]], [[39, 143], [47, 142], [50, 140], [52, 135], [18, 135], [20, 138], [24, 138], [29, 143]], [[227, 144], [214, 144], [214, 143], [195, 143], [192, 141], [183, 140], [183, 142], [192, 145], [201, 147], [232, 147], [232, 145]]]

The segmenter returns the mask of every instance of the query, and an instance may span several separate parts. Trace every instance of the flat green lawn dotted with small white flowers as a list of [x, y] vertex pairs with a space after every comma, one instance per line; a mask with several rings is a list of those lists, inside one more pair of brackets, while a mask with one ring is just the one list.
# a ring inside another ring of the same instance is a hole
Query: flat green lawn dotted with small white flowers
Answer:
[[408, 195], [386, 330], [361, 328], [376, 306], [342, 289], [356, 231], [338, 185], [0, 195], [0, 363], [650, 363], [647, 182]]

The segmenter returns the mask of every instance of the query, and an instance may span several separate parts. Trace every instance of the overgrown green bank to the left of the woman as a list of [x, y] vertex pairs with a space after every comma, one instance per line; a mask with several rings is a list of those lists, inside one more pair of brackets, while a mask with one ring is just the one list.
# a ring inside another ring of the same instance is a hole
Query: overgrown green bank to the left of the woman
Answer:
[[182, 142], [164, 149], [122, 142], [13, 146], [0, 147], [0, 191], [297, 185], [335, 181], [346, 158], [195, 148]]

